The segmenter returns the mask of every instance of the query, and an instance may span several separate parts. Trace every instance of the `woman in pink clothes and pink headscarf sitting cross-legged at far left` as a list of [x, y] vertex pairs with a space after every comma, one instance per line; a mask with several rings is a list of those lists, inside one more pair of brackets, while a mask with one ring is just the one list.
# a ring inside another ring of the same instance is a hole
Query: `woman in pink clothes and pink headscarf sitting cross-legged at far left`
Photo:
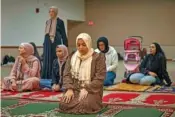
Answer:
[[33, 46], [29, 43], [22, 43], [19, 46], [19, 54], [10, 76], [3, 80], [3, 89], [11, 91], [39, 89], [41, 68], [39, 60], [33, 56]]

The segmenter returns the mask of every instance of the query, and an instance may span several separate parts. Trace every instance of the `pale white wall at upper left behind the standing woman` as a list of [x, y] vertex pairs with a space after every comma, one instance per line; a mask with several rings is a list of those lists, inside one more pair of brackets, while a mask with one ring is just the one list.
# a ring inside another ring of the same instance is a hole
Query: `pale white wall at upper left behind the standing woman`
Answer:
[[[2, 46], [17, 46], [21, 42], [35, 42], [40, 46], [44, 40], [45, 22], [50, 6], [59, 8], [64, 20], [84, 21], [84, 0], [2, 0]], [[35, 13], [35, 8], [40, 12]]]

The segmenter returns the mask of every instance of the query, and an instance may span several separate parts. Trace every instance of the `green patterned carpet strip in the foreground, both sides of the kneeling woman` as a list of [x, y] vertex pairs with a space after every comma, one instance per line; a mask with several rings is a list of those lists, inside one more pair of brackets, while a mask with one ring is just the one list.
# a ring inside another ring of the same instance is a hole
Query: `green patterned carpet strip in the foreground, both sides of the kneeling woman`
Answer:
[[[2, 117], [173, 117], [175, 108], [165, 106], [108, 105], [96, 114], [59, 113], [58, 102], [2, 99]], [[143, 114], [145, 113], [145, 114]]]

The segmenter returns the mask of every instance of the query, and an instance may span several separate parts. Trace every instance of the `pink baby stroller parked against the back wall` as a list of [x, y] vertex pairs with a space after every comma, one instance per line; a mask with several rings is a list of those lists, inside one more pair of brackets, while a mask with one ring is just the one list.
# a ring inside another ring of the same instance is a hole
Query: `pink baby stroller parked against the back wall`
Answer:
[[142, 39], [141, 36], [131, 36], [124, 41], [125, 78], [127, 78], [127, 75], [130, 73], [139, 72]]

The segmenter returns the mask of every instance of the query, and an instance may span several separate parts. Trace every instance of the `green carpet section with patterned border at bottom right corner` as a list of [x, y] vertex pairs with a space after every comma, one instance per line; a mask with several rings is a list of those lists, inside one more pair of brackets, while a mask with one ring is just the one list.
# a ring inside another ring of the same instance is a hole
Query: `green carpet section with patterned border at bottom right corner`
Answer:
[[174, 117], [175, 108], [165, 106], [108, 105], [102, 117]]

